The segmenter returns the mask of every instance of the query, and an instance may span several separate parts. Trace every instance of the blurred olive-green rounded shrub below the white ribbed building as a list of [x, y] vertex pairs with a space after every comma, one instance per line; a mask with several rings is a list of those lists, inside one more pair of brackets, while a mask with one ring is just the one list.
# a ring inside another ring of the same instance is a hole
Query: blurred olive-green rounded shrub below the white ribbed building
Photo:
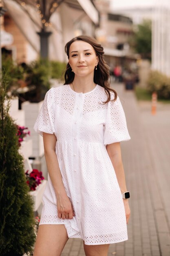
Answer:
[[151, 93], [157, 92], [159, 99], [170, 99], [170, 77], [158, 71], [151, 71], [147, 89]]

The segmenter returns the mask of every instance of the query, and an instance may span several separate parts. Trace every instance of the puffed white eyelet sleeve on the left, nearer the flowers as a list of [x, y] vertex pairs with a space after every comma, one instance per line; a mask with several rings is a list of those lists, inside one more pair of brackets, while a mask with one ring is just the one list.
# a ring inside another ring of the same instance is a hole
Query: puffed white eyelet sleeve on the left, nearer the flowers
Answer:
[[35, 132], [42, 135], [42, 132], [53, 134], [55, 132], [55, 106], [53, 104], [53, 90], [46, 92], [44, 102], [34, 124]]

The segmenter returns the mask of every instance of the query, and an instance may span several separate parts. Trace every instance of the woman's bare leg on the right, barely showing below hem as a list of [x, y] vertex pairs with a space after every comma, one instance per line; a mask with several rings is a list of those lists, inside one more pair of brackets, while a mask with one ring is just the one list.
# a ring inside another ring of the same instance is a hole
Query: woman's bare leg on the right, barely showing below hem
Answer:
[[[83, 241], [84, 244], [84, 241]], [[86, 256], [107, 256], [108, 255], [108, 245], [85, 245], [84, 252]]]

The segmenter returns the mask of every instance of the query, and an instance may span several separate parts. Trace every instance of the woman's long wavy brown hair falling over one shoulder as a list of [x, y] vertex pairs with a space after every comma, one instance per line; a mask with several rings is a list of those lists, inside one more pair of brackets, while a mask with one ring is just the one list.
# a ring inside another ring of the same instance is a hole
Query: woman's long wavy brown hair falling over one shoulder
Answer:
[[[113, 101], [115, 101], [117, 99], [117, 92], [115, 90], [113, 90], [112, 88], [110, 88], [110, 72], [109, 72], [110, 67], [106, 64], [106, 61], [104, 61], [103, 47], [97, 42], [97, 40], [95, 40], [95, 38], [93, 38], [91, 36], [83, 35], [83, 36], [76, 36], [73, 39], [71, 39], [65, 45], [65, 52], [68, 56], [68, 59], [70, 58], [69, 50], [70, 50], [71, 44], [78, 40], [82, 40], [82, 41], [92, 45], [93, 48], [95, 49], [96, 55], [99, 58], [97, 70], [94, 70], [94, 79], [93, 80], [94, 80], [94, 83], [97, 83], [98, 85], [102, 86], [107, 94], [108, 99], [104, 103], [108, 103], [110, 101], [110, 99], [111, 99], [110, 91], [114, 92], [115, 97], [114, 97]], [[75, 74], [74, 74], [74, 72], [72, 72], [70, 64], [67, 63], [66, 72], [64, 74], [64, 79], [65, 79], [64, 85], [72, 83], [74, 80], [74, 76], [75, 76]]]

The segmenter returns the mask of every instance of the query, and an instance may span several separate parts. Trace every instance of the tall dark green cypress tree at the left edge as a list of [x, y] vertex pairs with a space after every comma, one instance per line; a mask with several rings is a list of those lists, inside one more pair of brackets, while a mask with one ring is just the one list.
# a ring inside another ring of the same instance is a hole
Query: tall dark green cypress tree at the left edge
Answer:
[[7, 77], [0, 79], [0, 256], [19, 256], [32, 251], [35, 221], [17, 128], [9, 116]]

